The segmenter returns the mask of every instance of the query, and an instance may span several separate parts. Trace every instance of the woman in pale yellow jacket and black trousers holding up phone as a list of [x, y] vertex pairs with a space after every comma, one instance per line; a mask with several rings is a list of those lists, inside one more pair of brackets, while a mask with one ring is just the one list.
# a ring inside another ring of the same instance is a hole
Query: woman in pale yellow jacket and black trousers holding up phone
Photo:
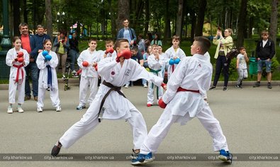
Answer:
[[216, 36], [213, 38], [213, 44], [217, 45], [217, 49], [215, 50], [215, 77], [213, 81], [213, 86], [210, 90], [215, 89], [219, 77], [220, 72], [223, 70], [224, 75], [224, 84], [223, 91], [228, 90], [228, 79], [230, 77], [230, 58], [227, 59], [225, 56], [233, 49], [233, 38], [231, 35], [233, 34], [233, 30], [230, 28], [225, 29], [224, 31], [225, 37], [223, 37], [222, 32], [218, 29]]

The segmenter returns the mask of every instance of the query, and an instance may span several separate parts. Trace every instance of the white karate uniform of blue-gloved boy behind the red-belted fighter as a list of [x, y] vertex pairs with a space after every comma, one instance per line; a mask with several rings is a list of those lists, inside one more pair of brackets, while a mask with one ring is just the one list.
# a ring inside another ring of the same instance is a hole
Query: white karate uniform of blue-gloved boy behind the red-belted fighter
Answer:
[[183, 50], [181, 50], [181, 48], [177, 48], [177, 50], [175, 51], [172, 46], [165, 51], [165, 55], [168, 58], [168, 71], [167, 72], [168, 72], [168, 80], [169, 80], [170, 75], [172, 74], [172, 72], [174, 72], [174, 70], [177, 68], [177, 65], [178, 65], [178, 64], [169, 65], [169, 60], [172, 58], [175, 58], [175, 57], [177, 57], [179, 59], [185, 58], [186, 54], [184, 53]]

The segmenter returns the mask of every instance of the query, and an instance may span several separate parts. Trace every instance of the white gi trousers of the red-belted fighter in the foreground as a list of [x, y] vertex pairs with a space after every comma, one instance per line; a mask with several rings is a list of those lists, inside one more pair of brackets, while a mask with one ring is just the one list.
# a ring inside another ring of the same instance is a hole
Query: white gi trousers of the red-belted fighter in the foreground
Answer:
[[[225, 151], [228, 151], [228, 144], [225, 136], [223, 135], [220, 123], [217, 119], [215, 119], [211, 108], [206, 105], [206, 107], [201, 112], [198, 112], [196, 117], [213, 138], [214, 151], [220, 151], [220, 149], [225, 149]], [[159, 144], [163, 141], [164, 137], [167, 136], [171, 125], [174, 122], [181, 122], [181, 119], [184, 119], [184, 122], [189, 122], [191, 119], [193, 119], [193, 117], [189, 117], [189, 113], [186, 113], [184, 117], [172, 115], [170, 110], [165, 109], [162, 115], [159, 117], [157, 124], [152, 126], [147, 138], [144, 140], [140, 153], [147, 154], [150, 152], [157, 152]]]

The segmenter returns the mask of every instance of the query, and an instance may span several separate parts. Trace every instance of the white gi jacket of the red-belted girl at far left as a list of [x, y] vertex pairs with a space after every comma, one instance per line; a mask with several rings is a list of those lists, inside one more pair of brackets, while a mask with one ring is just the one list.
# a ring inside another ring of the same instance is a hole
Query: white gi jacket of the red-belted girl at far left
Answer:
[[[23, 52], [23, 59], [24, 59], [24, 62], [26, 63], [26, 65], [24, 65], [23, 67], [26, 67], [28, 64], [29, 64], [29, 54], [26, 50], [24, 49], [20, 49], [19, 52]], [[18, 61], [15, 62], [15, 63], [12, 63], [13, 60], [15, 58], [17, 58], [17, 52], [16, 52], [16, 49], [15, 48], [11, 48], [7, 55], [6, 55], [6, 65], [10, 66], [11, 69], [10, 69], [10, 78], [12, 80], [16, 80], [16, 75], [17, 75], [17, 72], [18, 73], [18, 80], [25, 80], [24, 78], [26, 77], [26, 70], [22, 67], [20, 68], [20, 70], [18, 71], [18, 68], [16, 67], [13, 67], [13, 65], [21, 65], [23, 63], [19, 63]], [[22, 75], [22, 72], [23, 72], [23, 75]], [[23, 78], [22, 78], [23, 76]]]

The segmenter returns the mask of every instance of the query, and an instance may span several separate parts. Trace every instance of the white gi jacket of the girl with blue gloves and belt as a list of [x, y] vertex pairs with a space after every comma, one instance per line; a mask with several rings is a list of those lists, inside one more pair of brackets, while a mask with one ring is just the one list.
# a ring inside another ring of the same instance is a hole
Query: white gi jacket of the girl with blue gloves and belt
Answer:
[[58, 84], [57, 84], [57, 72], [55, 68], [58, 65], [58, 59], [57, 59], [57, 54], [50, 50], [49, 53], [50, 56], [52, 56], [52, 59], [50, 61], [45, 62], [45, 58], [42, 55], [42, 52], [39, 53], [38, 58], [36, 60], [36, 64], [38, 68], [40, 69], [40, 74], [39, 74], [39, 80], [38, 80], [38, 87], [39, 88], [44, 88], [47, 89], [47, 65], [50, 65], [51, 70], [52, 70], [52, 88], [58, 90]]

